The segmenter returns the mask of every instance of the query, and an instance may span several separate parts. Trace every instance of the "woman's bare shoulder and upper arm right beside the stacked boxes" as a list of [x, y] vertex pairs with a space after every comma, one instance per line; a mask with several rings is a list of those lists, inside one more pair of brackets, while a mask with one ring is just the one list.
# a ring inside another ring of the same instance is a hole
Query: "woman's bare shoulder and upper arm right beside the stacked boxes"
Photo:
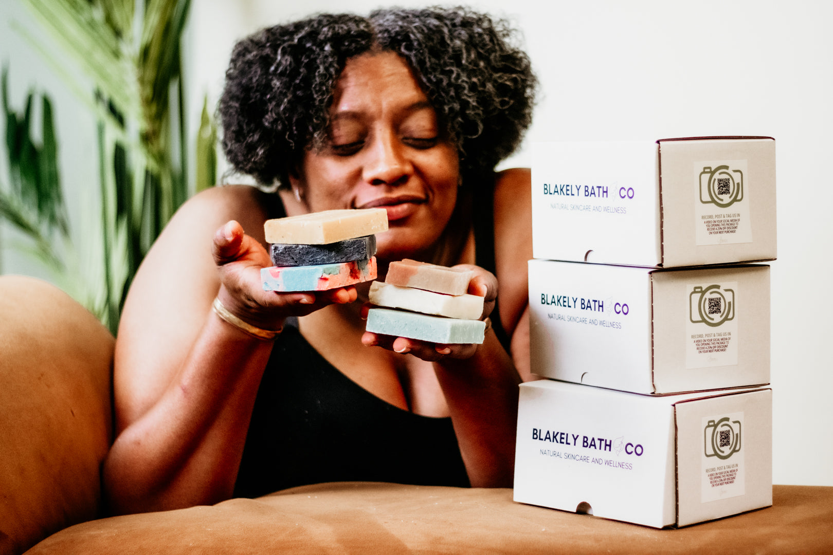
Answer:
[[532, 257], [531, 172], [528, 168], [512, 168], [496, 175], [494, 214], [501, 320], [506, 330], [515, 330], [526, 310], [526, 261]]

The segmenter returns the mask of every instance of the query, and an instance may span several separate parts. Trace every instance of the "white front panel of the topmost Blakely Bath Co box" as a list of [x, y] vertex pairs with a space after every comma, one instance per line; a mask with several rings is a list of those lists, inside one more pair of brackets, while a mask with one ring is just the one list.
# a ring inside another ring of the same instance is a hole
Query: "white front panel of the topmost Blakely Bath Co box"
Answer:
[[655, 141], [532, 143], [532, 254], [660, 263]]

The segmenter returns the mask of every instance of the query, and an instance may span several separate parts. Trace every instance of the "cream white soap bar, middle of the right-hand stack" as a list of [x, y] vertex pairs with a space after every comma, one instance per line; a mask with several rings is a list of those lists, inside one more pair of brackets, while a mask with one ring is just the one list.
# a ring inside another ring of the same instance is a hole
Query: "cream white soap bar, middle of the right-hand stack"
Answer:
[[374, 281], [371, 284], [370, 302], [394, 309], [413, 310], [422, 314], [448, 316], [461, 320], [478, 320], [483, 315], [483, 297], [433, 293], [381, 281]]

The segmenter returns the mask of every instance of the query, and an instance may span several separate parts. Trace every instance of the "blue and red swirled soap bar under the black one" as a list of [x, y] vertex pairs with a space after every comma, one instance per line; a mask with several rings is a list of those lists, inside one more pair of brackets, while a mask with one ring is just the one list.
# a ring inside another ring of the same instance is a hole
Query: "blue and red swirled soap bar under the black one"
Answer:
[[346, 287], [377, 277], [376, 257], [338, 264], [309, 266], [272, 266], [262, 268], [263, 290], [267, 291], [325, 291]]

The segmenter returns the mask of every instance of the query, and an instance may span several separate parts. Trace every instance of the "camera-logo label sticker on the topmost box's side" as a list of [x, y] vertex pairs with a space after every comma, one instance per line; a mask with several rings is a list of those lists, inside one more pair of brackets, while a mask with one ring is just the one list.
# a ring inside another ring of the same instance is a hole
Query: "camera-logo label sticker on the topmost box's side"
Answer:
[[697, 245], [751, 243], [746, 160], [694, 163]]

